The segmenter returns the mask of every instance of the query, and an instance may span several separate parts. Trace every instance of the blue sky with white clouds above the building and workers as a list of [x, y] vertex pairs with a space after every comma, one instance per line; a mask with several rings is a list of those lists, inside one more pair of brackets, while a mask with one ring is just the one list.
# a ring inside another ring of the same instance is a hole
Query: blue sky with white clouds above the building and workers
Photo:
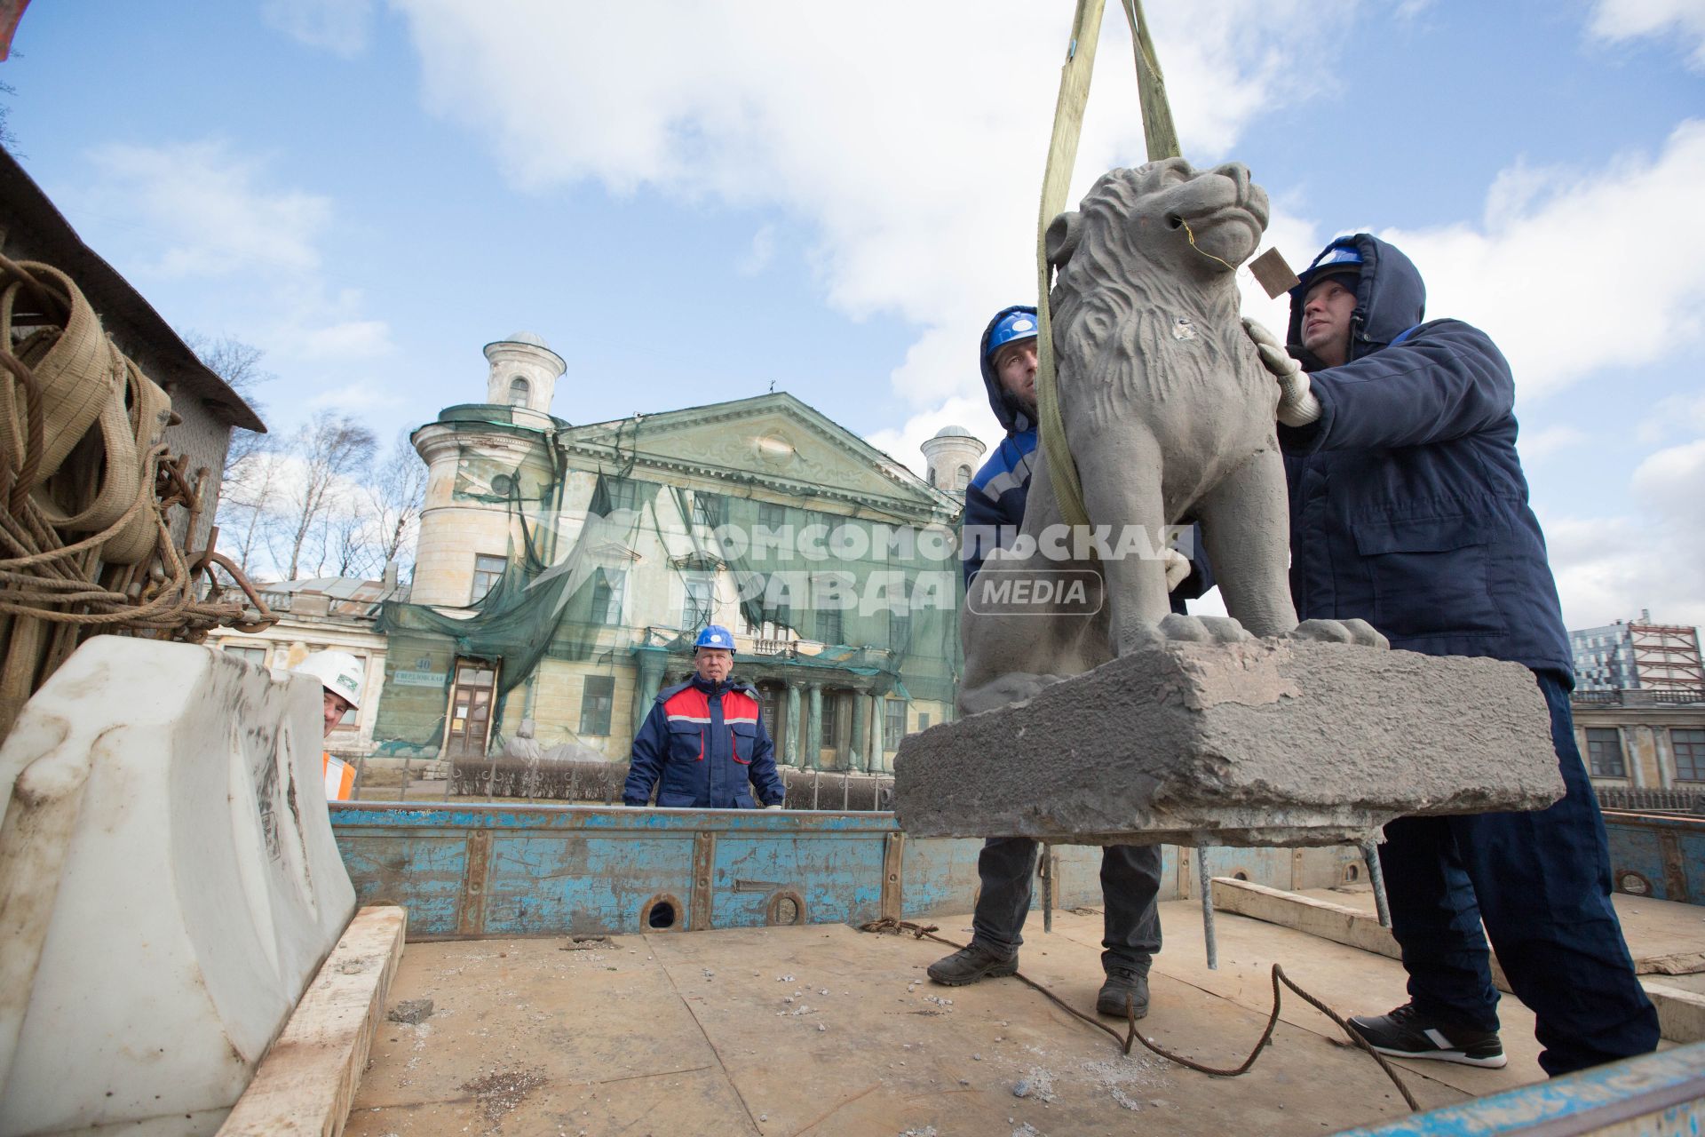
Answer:
[[[387, 436], [542, 334], [575, 423], [791, 390], [922, 469], [992, 438], [1071, 3], [38, 3], [26, 167], [266, 418]], [[1074, 194], [1142, 160], [1103, 29]], [[1371, 228], [1516, 365], [1572, 626], [1705, 620], [1705, 0], [1151, 0], [1185, 153], [1306, 261]], [[1248, 310], [1280, 312], [1246, 283]]]

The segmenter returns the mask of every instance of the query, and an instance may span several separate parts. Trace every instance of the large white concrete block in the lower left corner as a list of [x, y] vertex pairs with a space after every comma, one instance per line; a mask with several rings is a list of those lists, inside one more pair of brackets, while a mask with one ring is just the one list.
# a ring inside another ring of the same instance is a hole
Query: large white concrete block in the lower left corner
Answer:
[[321, 689], [85, 643], [0, 748], [0, 1137], [211, 1134], [355, 912]]

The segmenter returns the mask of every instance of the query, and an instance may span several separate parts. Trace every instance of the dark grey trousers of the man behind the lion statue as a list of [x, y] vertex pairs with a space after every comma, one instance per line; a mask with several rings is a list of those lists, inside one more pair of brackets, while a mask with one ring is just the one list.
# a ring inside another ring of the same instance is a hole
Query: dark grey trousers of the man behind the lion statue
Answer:
[[[1030, 915], [1035, 881], [1037, 842], [1028, 837], [991, 837], [977, 856], [982, 893], [972, 919], [972, 941], [1014, 955], [1025, 943], [1020, 934]], [[1101, 967], [1125, 967], [1147, 973], [1149, 960], [1161, 949], [1161, 915], [1156, 895], [1161, 886], [1159, 846], [1107, 846], [1101, 849]]]

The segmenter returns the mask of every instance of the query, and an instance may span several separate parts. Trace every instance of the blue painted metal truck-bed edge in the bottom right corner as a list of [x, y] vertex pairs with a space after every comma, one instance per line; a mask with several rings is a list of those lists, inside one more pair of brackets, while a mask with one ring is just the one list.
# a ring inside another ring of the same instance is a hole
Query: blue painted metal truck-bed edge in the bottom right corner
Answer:
[[1570, 1137], [1666, 1111], [1671, 1125], [1654, 1134], [1700, 1132], [1705, 1042], [1415, 1113], [1376, 1128], [1345, 1128], [1337, 1137]]

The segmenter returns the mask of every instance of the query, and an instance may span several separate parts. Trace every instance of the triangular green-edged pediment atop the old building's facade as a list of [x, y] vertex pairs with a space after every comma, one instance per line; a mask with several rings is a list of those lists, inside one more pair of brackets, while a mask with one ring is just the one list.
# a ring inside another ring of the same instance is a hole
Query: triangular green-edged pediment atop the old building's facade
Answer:
[[563, 442], [587, 453], [609, 452], [624, 464], [633, 460], [634, 477], [644, 477], [646, 465], [738, 474], [795, 494], [805, 488], [907, 510], [957, 510], [953, 498], [789, 394], [592, 423], [564, 431]]

